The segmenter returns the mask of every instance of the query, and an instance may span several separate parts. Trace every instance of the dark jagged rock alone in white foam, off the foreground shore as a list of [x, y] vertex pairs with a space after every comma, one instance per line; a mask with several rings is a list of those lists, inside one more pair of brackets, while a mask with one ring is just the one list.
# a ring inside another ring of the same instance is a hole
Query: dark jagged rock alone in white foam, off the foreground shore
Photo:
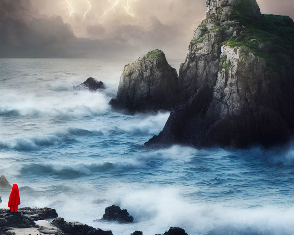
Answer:
[[127, 212], [127, 209], [121, 210], [119, 206], [112, 205], [105, 208], [105, 214], [102, 217], [103, 220], [116, 221], [119, 223], [133, 223], [133, 216]]

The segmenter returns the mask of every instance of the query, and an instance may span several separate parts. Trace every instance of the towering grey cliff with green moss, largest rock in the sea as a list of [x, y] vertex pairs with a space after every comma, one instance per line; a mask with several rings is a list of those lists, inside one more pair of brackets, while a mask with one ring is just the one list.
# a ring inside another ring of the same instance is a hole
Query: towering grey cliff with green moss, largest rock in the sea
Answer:
[[146, 145], [287, 142], [294, 131], [293, 21], [262, 15], [256, 0], [206, 4], [179, 71], [183, 105]]

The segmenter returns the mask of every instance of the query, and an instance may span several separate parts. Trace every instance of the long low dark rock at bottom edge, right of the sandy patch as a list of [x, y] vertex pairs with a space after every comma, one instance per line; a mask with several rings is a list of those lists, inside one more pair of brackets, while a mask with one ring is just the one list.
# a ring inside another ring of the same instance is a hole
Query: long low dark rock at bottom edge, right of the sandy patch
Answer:
[[95, 229], [79, 222], [66, 222], [64, 221], [64, 218], [56, 218], [51, 224], [70, 235], [113, 235], [111, 231]]

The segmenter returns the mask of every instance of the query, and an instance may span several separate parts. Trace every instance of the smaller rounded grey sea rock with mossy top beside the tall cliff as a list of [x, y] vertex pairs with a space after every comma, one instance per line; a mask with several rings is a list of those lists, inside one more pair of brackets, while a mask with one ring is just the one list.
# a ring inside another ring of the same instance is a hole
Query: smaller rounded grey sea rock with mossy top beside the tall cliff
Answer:
[[118, 85], [113, 108], [170, 109], [178, 103], [178, 74], [164, 53], [154, 50], [128, 63]]

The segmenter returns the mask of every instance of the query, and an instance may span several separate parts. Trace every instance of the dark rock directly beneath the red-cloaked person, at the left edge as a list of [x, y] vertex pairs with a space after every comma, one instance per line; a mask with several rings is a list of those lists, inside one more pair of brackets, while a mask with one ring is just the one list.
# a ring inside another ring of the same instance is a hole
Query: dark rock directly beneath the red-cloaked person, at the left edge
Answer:
[[5, 227], [13, 228], [31, 228], [39, 226], [30, 217], [21, 214], [21, 212], [10, 212], [9, 209], [0, 209], [0, 232]]

